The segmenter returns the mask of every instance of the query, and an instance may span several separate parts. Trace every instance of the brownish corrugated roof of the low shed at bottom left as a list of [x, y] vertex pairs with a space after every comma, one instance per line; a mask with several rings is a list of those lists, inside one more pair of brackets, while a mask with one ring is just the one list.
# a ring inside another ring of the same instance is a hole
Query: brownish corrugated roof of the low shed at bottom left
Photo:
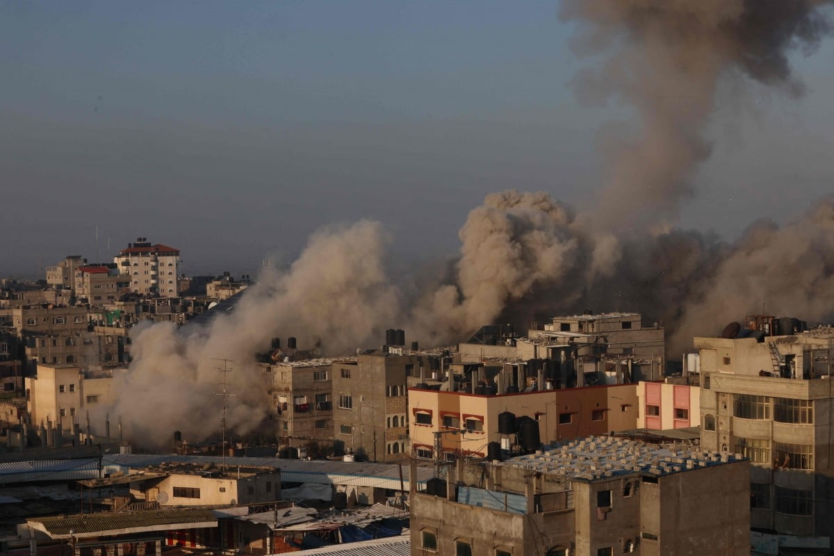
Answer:
[[183, 526], [214, 527], [217, 518], [208, 508], [173, 508], [136, 512], [102, 512], [48, 518], [30, 518], [30, 527], [50, 538], [92, 537], [99, 534], [165, 531]]

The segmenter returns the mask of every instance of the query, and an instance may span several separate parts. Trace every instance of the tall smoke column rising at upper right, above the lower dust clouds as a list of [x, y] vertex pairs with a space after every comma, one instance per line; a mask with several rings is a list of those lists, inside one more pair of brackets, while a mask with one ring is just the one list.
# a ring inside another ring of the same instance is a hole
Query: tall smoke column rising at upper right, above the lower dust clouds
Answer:
[[605, 54], [575, 79], [580, 99], [615, 97], [636, 109], [636, 137], [615, 153], [596, 221], [641, 233], [676, 221], [709, 157], [704, 129], [719, 80], [741, 73], [799, 94], [787, 55], [813, 52], [831, 32], [822, 0], [565, 0], [583, 24], [580, 53]]

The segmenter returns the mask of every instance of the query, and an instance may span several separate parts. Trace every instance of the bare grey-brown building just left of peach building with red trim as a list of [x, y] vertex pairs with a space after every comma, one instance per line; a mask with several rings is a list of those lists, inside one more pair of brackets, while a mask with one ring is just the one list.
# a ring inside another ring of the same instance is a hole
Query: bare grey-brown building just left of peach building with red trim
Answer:
[[334, 432], [372, 461], [408, 456], [408, 379], [415, 356], [384, 351], [333, 364]]

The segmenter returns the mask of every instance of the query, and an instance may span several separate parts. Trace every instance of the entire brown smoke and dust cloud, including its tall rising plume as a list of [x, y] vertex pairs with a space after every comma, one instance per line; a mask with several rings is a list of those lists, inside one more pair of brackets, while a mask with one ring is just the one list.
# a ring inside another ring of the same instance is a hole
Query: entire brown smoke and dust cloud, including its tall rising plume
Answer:
[[787, 54], [810, 53], [829, 33], [825, 4], [567, 0], [562, 16], [581, 28], [576, 48], [607, 57], [575, 78], [581, 98], [615, 97], [636, 114], [635, 133], [605, 153], [596, 208], [576, 214], [548, 193], [493, 193], [461, 228], [450, 275], [407, 292], [386, 271], [389, 238], [378, 223], [325, 228], [295, 263], [263, 273], [210, 325], [134, 330], [134, 360], [111, 411], [122, 415], [128, 439], [146, 446], [163, 446], [173, 430], [197, 439], [217, 433], [215, 358], [229, 358], [229, 428], [253, 431], [270, 403], [254, 353], [275, 336], [349, 354], [378, 346], [385, 328], [442, 345], [484, 324], [523, 328], [596, 308], [662, 321], [674, 357], [693, 335], [762, 307], [809, 321], [830, 317], [817, 299], [834, 293], [831, 201], [784, 228], [755, 223], [735, 245], [674, 228], [711, 152], [704, 130], [721, 79], [800, 95]]

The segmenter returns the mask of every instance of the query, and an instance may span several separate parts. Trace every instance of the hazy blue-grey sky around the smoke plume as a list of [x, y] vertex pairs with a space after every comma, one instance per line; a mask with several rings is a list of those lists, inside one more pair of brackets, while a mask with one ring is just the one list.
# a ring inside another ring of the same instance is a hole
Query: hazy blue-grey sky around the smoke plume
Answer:
[[[577, 102], [595, 60], [558, 11], [0, 0], [0, 276], [95, 258], [96, 224], [102, 260], [146, 236], [188, 273], [254, 273], [327, 223], [377, 219], [422, 259], [457, 250], [486, 193], [590, 206], [600, 126], [629, 113]], [[804, 98], [719, 96], [681, 226], [732, 239], [831, 192], [832, 61], [831, 41], [796, 53]]]

